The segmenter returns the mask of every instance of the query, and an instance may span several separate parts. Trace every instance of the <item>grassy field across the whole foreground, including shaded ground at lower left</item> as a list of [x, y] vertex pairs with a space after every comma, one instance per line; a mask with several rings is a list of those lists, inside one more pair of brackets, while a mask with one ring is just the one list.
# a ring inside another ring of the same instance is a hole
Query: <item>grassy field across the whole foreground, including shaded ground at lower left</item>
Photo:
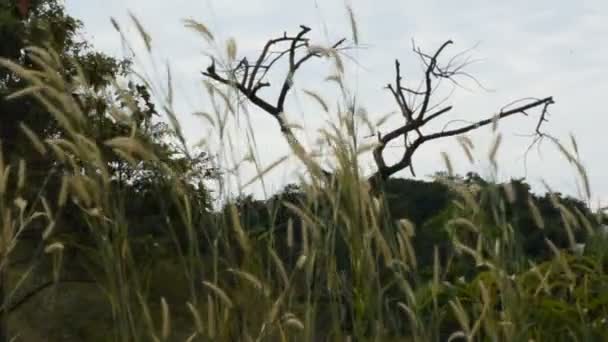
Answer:
[[[236, 49], [230, 45], [228, 55]], [[27, 165], [9, 172], [0, 159], [8, 307], [47, 284], [10, 311], [15, 341], [608, 340], [601, 212], [584, 214], [548, 194], [557, 213], [548, 227], [535, 202], [515, 196], [509, 183], [480, 192], [446, 174], [437, 180], [452, 194], [445, 210], [419, 225], [395, 217], [382, 188], [361, 176], [360, 155], [369, 147], [352, 142], [349, 113], [320, 133], [333, 154], [331, 177], [294, 144], [307, 167], [296, 195], [252, 201], [253, 209], [237, 201], [205, 209], [139, 132], [95, 139], [68, 91], [85, 87], [85, 79], [62, 78], [56, 71], [64, 61], [52, 51], [32, 53], [36, 70], [2, 63], [31, 83], [15, 96], [34, 96], [65, 131], [56, 139], [30, 136], [63, 176], [56, 190], [34, 198], [42, 204], [29, 205], [18, 191], [28, 186]], [[235, 95], [213, 89], [219, 104], [209, 117], [221, 125]], [[169, 102], [164, 113], [179, 137]], [[587, 184], [572, 148], [552, 141]], [[131, 216], [129, 197], [101, 155], [107, 147], [134, 165], [158, 166], [168, 186], [149, 197], [156, 211]], [[262, 179], [268, 170], [260, 171]], [[144, 214], [156, 215], [146, 223], [154, 233], [135, 228]], [[517, 226], [519, 214], [534, 221], [534, 231]], [[79, 233], [62, 222], [78, 223]], [[23, 239], [31, 227], [42, 239]], [[431, 230], [437, 240], [415, 243]], [[543, 238], [543, 256], [524, 252], [522, 236], [549, 230], [564, 243]], [[35, 262], [12, 264], [35, 253]]]

